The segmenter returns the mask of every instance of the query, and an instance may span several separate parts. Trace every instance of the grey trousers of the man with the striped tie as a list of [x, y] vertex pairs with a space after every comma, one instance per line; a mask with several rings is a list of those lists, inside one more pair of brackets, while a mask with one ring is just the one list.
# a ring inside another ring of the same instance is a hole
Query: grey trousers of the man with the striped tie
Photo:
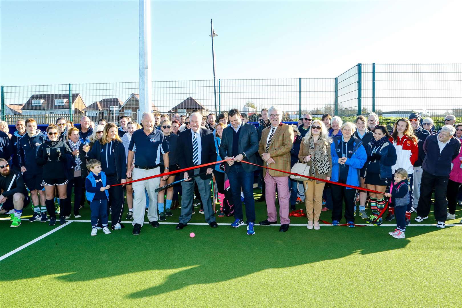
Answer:
[[[193, 173], [194, 172], [194, 173]], [[199, 168], [190, 170], [189, 176], [199, 174]], [[181, 174], [183, 175], [183, 174]], [[180, 223], [187, 224], [191, 220], [193, 212], [194, 184], [197, 183], [199, 193], [201, 194], [202, 205], [204, 206], [204, 216], [207, 223], [215, 221], [215, 214], [212, 208], [212, 197], [210, 195], [210, 179], [202, 180], [201, 177], [195, 177], [189, 181], [182, 181], [181, 196], [181, 215]]]

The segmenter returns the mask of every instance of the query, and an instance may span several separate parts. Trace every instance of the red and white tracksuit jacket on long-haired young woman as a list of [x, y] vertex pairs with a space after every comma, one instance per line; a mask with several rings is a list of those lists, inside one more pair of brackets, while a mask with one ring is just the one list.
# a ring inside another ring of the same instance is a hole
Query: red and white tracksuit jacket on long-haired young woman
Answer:
[[389, 139], [396, 149], [396, 163], [391, 166], [391, 172], [395, 173], [396, 169], [403, 168], [407, 174], [412, 174], [414, 172], [413, 165], [419, 158], [419, 146], [406, 135], [403, 135], [401, 139], [399, 136], [396, 138], [396, 141], [393, 140], [393, 137]]

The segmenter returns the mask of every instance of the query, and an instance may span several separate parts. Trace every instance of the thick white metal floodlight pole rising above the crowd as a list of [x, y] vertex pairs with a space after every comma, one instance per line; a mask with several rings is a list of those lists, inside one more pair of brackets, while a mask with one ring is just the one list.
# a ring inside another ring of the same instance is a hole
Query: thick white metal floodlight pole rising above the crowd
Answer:
[[151, 75], [151, 0], [139, 0], [140, 24], [140, 117], [152, 110], [152, 75]]

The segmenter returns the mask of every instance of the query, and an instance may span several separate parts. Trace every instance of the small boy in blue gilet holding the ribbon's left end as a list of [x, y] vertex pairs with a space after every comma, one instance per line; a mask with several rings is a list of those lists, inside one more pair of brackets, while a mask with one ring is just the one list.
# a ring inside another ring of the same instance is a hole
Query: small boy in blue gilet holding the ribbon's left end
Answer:
[[103, 224], [103, 232], [109, 234], [111, 233], [108, 228], [109, 185], [106, 185], [106, 174], [101, 171], [101, 162], [97, 159], [90, 159], [87, 169], [90, 174], [85, 179], [85, 195], [90, 202], [91, 235], [96, 236], [99, 219]]

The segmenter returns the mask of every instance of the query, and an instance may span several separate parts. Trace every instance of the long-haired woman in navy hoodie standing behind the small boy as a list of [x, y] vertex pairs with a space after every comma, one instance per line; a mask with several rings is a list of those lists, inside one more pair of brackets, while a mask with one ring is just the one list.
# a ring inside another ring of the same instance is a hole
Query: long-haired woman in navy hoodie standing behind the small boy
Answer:
[[[89, 158], [95, 158], [101, 162], [101, 168], [106, 174], [108, 185], [125, 183], [127, 179], [127, 159], [122, 140], [117, 133], [117, 127], [113, 123], [104, 126], [103, 136], [91, 148]], [[111, 186], [109, 188], [109, 207], [111, 208], [111, 229], [118, 230], [123, 227], [123, 186]]]

